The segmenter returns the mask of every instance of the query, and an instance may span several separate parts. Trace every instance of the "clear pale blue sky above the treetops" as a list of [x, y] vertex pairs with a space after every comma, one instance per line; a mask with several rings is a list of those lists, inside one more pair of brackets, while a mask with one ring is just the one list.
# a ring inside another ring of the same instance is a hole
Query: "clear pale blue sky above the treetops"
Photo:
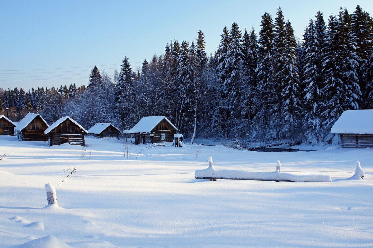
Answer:
[[128, 56], [136, 70], [166, 43], [195, 41], [202, 30], [213, 53], [224, 26], [259, 31], [264, 11], [279, 6], [301, 37], [317, 11], [325, 19], [373, 1], [5, 1], [0, 0], [0, 88], [87, 84], [94, 65], [112, 75]]

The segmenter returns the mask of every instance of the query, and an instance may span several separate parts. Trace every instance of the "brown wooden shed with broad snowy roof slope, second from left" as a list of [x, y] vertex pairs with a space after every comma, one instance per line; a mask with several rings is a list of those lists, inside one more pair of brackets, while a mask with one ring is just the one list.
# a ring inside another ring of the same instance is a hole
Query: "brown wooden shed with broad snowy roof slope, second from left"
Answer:
[[40, 114], [28, 113], [15, 128], [17, 138], [23, 141], [48, 141], [44, 131], [49, 127]]

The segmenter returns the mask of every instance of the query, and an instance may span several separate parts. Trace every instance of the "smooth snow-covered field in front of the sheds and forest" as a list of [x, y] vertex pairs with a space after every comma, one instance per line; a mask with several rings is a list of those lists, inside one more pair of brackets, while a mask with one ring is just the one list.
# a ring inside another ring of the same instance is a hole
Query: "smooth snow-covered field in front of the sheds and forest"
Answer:
[[[0, 247], [373, 247], [373, 149], [145, 147], [127, 159], [113, 138], [48, 147], [0, 136]], [[280, 160], [332, 182], [195, 179], [208, 156], [216, 169], [273, 172]], [[345, 180], [356, 160], [365, 180]], [[46, 207], [46, 183], [59, 207]]]

